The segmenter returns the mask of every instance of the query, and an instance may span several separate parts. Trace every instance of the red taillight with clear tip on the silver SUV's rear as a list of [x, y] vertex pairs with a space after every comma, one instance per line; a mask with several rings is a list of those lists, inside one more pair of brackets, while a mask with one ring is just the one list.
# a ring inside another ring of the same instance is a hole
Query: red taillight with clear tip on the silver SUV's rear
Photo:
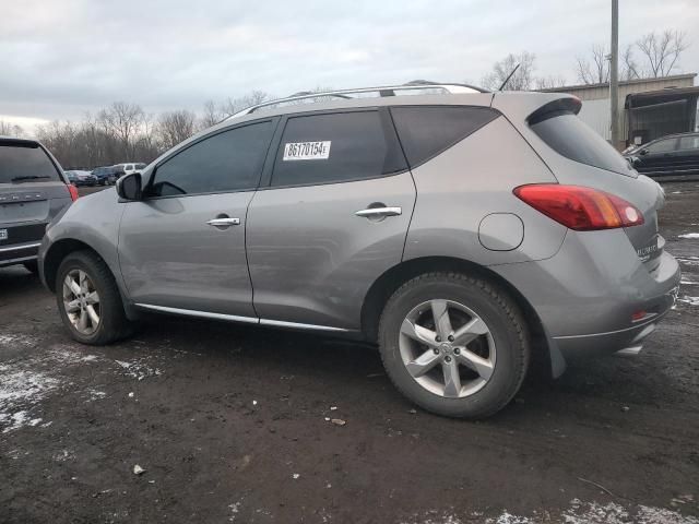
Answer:
[[599, 189], [541, 183], [520, 186], [514, 194], [546, 216], [577, 231], [613, 229], [643, 224], [632, 204]]

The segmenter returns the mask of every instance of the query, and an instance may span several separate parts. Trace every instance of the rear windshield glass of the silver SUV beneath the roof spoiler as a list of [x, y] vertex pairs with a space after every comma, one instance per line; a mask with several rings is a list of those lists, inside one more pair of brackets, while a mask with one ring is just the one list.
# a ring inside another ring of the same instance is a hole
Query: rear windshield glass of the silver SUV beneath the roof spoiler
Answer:
[[629, 163], [572, 112], [556, 116], [531, 124], [532, 130], [557, 153], [571, 160], [609, 171], [628, 175]]

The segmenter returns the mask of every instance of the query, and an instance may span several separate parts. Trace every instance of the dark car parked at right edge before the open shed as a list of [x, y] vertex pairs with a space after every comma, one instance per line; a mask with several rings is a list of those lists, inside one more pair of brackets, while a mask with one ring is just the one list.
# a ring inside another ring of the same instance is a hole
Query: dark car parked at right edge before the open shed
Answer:
[[663, 136], [624, 156], [638, 172], [653, 178], [699, 175], [699, 133]]

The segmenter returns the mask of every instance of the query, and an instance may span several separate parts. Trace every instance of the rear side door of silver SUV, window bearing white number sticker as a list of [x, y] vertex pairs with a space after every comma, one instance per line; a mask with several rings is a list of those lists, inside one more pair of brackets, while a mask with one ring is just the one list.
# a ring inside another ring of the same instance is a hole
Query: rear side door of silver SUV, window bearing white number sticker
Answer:
[[254, 309], [262, 323], [356, 330], [369, 286], [401, 261], [415, 202], [390, 116], [304, 114], [280, 128], [248, 211]]

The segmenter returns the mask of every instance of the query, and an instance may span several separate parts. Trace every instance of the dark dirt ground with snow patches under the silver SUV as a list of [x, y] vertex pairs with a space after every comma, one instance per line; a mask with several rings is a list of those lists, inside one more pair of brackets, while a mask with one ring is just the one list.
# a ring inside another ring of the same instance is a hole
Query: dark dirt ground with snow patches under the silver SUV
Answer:
[[477, 424], [317, 335], [154, 317], [81, 346], [0, 270], [0, 522], [697, 524], [699, 182], [666, 192], [683, 287], [644, 350], [529, 379]]

